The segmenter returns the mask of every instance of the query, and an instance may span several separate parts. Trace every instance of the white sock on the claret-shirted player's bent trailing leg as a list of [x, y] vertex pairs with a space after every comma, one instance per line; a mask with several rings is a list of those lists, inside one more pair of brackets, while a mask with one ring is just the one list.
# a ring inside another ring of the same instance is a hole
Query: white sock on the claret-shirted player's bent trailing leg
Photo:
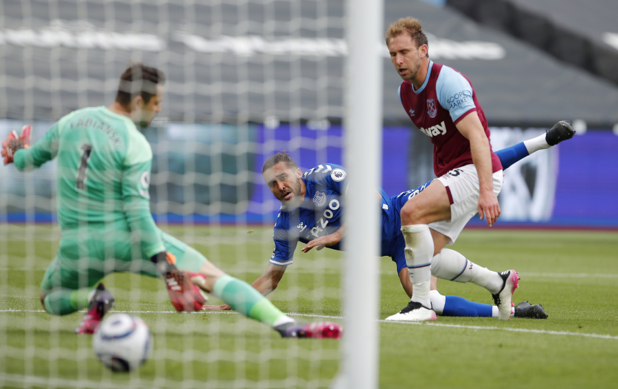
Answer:
[[431, 274], [439, 279], [461, 283], [471, 282], [484, 287], [492, 294], [500, 292], [504, 283], [497, 272], [477, 265], [450, 248], [443, 248], [442, 252], [433, 257]]

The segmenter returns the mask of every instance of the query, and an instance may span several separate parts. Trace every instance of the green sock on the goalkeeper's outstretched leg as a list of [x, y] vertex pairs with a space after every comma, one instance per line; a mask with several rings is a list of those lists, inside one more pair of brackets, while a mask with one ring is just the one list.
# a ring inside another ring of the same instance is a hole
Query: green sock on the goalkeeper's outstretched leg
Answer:
[[279, 311], [266, 296], [251, 285], [228, 274], [219, 277], [214, 284], [212, 294], [235, 311], [271, 327], [275, 325], [275, 322], [280, 325], [295, 321]]

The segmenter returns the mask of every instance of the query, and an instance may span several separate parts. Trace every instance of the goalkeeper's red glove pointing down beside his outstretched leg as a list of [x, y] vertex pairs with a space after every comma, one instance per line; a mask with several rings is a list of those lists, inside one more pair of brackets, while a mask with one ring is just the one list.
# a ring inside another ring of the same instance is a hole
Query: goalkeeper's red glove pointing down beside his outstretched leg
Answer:
[[150, 258], [150, 261], [155, 263], [157, 270], [163, 276], [174, 308], [179, 312], [201, 310], [207, 299], [202, 294], [200, 288], [191, 281], [197, 274], [176, 268], [172, 263], [175, 257], [170, 254], [170, 261], [168, 261], [167, 257], [168, 254], [163, 251]]

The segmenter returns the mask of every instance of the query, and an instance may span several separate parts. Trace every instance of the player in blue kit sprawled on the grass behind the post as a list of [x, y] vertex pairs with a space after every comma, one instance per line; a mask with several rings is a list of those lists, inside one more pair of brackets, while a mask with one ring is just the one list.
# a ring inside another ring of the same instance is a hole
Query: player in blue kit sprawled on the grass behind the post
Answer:
[[[556, 137], [564, 140], [562, 126], [556, 125], [547, 134], [519, 143], [496, 154], [503, 167], [509, 167], [532, 152], [551, 147]], [[568, 139], [568, 138], [566, 138]], [[345, 233], [342, 213], [342, 193], [346, 190], [346, 172], [343, 167], [323, 164], [302, 174], [296, 163], [285, 153], [279, 153], [264, 163], [264, 181], [282, 207], [277, 215], [273, 239], [275, 249], [271, 255], [266, 272], [252, 284], [256, 290], [267, 295], [277, 287], [287, 266], [293, 263], [293, 253], [297, 242], [304, 244], [303, 252], [312, 248], [329, 247], [340, 250], [341, 239]], [[431, 182], [431, 181], [430, 181]], [[397, 263], [400, 281], [408, 296], [412, 295], [407, 264], [404, 255], [405, 242], [400, 231], [400, 210], [403, 205], [423, 191], [429, 184], [412, 191], [400, 193], [389, 198], [380, 189], [382, 207], [381, 255], [391, 257]], [[455, 250], [443, 249], [433, 259], [432, 273], [442, 279], [457, 282], [472, 282], [485, 287], [485, 275], [492, 272], [472, 263]], [[437, 281], [437, 280], [435, 280]], [[431, 304], [437, 314], [445, 316], [498, 316], [497, 307], [472, 303], [457, 296], [442, 296], [435, 290], [431, 292]], [[229, 309], [229, 306], [209, 306], [207, 309]], [[540, 305], [520, 303], [514, 309], [516, 317], [547, 318]]]

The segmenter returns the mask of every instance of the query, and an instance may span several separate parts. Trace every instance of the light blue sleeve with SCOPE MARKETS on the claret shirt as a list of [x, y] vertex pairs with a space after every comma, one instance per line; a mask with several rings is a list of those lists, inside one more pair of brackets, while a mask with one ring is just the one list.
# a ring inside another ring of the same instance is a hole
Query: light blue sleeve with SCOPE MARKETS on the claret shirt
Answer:
[[472, 86], [461, 73], [443, 66], [435, 82], [438, 102], [448, 110], [453, 122], [464, 117], [470, 110], [476, 110], [472, 98]]

